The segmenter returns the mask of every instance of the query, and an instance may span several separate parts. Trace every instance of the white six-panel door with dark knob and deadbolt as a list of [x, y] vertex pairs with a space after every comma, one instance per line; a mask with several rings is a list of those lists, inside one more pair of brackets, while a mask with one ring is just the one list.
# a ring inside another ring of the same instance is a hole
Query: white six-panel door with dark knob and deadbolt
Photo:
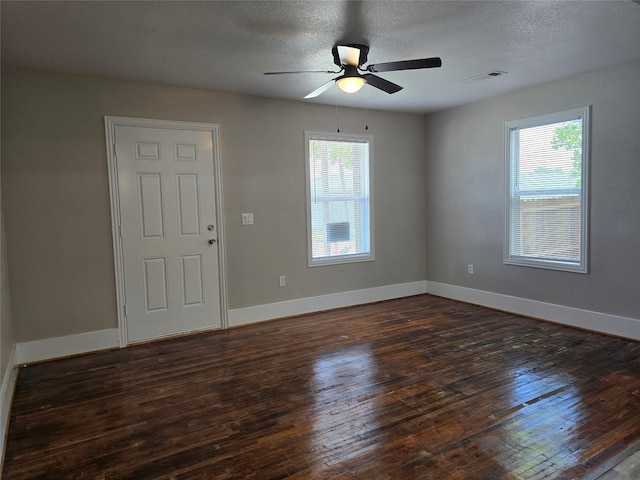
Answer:
[[114, 134], [128, 341], [220, 328], [211, 132]]

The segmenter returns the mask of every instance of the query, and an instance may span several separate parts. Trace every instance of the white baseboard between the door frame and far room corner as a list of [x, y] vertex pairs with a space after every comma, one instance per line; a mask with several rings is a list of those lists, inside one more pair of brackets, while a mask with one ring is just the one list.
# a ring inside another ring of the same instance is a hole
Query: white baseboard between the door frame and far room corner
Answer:
[[229, 326], [237, 327], [249, 323], [273, 320], [275, 318], [303, 315], [305, 313], [350, 307], [364, 303], [380, 302], [382, 300], [409, 297], [422, 293], [426, 293], [426, 282], [424, 280], [343, 293], [331, 293], [317, 297], [298, 298], [296, 300], [269, 303], [254, 307], [237, 308], [229, 310]]

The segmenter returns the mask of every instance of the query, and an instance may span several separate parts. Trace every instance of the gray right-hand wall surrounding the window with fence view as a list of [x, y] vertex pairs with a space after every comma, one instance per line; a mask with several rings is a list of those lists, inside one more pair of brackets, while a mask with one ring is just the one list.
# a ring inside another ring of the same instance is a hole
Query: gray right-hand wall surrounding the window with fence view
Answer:
[[[428, 116], [427, 279], [640, 318], [639, 79], [633, 62]], [[590, 273], [504, 265], [504, 122], [584, 105]]]

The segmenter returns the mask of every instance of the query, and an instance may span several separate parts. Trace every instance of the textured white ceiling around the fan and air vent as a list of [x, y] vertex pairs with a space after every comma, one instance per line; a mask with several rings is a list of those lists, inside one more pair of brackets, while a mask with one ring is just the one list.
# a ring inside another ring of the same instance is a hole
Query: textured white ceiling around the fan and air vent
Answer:
[[[2, 64], [306, 102], [430, 112], [640, 59], [640, 5], [621, 1], [0, 3]], [[439, 56], [439, 69], [379, 74], [404, 86], [337, 87], [331, 47], [370, 63]], [[492, 70], [506, 75], [465, 79]], [[334, 75], [335, 76], [335, 75]]]

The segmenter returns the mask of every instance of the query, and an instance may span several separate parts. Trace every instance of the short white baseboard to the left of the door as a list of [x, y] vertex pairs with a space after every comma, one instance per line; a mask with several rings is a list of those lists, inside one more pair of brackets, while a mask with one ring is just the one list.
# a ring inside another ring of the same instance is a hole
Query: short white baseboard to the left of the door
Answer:
[[118, 329], [109, 328], [64, 337], [22, 342], [16, 345], [14, 365], [118, 348], [120, 346], [119, 339]]

